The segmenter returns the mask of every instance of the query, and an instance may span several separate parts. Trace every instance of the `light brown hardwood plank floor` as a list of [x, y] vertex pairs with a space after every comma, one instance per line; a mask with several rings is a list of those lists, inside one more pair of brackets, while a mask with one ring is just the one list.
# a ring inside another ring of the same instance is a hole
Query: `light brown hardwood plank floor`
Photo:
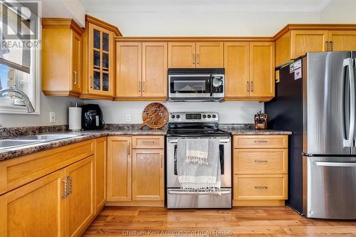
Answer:
[[308, 219], [288, 206], [230, 210], [105, 207], [83, 236], [356, 236], [356, 221]]

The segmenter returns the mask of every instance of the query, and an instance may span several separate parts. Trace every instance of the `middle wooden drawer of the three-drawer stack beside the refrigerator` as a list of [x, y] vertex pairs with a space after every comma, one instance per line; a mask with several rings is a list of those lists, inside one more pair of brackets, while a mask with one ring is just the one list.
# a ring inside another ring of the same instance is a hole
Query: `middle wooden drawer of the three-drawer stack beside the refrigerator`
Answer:
[[234, 149], [234, 174], [287, 174], [288, 149]]

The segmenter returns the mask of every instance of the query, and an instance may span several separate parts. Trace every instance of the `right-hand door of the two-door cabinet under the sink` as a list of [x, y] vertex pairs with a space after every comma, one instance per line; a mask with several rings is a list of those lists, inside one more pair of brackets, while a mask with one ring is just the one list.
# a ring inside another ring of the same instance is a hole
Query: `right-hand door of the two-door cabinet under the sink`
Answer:
[[95, 215], [94, 156], [66, 167], [66, 236], [80, 236]]

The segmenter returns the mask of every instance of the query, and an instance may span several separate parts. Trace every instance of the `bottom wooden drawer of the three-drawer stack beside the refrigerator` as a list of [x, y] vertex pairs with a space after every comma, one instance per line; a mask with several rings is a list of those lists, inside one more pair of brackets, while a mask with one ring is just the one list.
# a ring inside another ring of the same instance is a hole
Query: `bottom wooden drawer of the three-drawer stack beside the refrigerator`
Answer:
[[234, 199], [287, 199], [286, 174], [234, 175]]

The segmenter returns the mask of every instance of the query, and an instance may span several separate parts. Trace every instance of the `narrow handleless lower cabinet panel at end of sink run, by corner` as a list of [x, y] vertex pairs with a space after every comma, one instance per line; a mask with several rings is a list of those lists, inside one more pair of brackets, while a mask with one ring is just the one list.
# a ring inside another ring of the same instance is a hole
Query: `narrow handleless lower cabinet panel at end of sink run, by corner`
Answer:
[[100, 211], [106, 201], [107, 138], [95, 139], [95, 211]]

